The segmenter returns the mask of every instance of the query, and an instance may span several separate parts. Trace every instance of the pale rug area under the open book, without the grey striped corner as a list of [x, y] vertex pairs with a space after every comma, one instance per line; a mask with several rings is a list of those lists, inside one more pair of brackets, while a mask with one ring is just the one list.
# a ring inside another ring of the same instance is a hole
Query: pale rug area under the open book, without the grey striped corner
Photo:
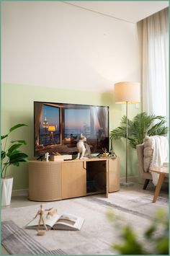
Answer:
[[[24, 229], [24, 226], [35, 216], [40, 203], [34, 206], [6, 208], [1, 211], [2, 221], [14, 221], [23, 228], [36, 242], [47, 250], [60, 248], [68, 255], [117, 255], [112, 244], [120, 242], [120, 230], [107, 219], [110, 209], [120, 218], [122, 225], [133, 227], [138, 239], [143, 239], [143, 231], [151, 224], [153, 214], [159, 209], [169, 211], [167, 196], [160, 196], [152, 203], [153, 192], [125, 191], [90, 195], [82, 198], [58, 200], [43, 203], [43, 208], [58, 208], [58, 214], [72, 213], [85, 219], [81, 231], [51, 230], [45, 236], [37, 237], [36, 231]], [[22, 253], [23, 255], [23, 253]]]

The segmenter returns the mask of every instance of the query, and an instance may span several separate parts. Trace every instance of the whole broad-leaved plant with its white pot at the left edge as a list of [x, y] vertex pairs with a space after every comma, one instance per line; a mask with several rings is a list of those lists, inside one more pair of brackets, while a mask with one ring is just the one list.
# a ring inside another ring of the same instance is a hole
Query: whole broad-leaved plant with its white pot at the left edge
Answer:
[[13, 177], [6, 177], [6, 171], [10, 165], [19, 166], [20, 162], [27, 162], [27, 154], [19, 151], [19, 147], [26, 144], [26, 141], [11, 141], [8, 145], [9, 134], [19, 127], [27, 126], [17, 124], [10, 128], [9, 133], [1, 136], [4, 142], [4, 149], [1, 149], [1, 206], [8, 206], [11, 203]]

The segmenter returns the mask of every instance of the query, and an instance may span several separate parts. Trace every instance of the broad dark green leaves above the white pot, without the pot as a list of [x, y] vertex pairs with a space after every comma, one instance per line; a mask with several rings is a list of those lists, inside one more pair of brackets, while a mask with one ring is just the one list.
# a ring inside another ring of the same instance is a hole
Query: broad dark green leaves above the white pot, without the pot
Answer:
[[12, 128], [10, 128], [9, 133], [7, 133], [4, 136], [1, 136], [1, 141], [6, 140], [4, 143], [4, 149], [1, 149], [1, 178], [6, 177], [6, 170], [9, 167], [9, 165], [15, 165], [19, 166], [20, 162], [27, 162], [27, 154], [22, 153], [19, 151], [19, 147], [22, 145], [26, 145], [26, 141], [19, 140], [19, 141], [11, 141], [10, 146], [7, 147], [7, 142], [9, 138], [9, 134], [12, 133], [12, 131], [16, 130], [19, 127], [27, 126], [24, 123], [14, 125]]

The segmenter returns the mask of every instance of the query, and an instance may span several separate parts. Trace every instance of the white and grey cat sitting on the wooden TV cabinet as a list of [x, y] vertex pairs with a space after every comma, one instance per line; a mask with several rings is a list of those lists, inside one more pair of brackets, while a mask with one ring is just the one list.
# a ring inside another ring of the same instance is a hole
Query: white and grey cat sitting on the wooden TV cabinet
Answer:
[[88, 159], [88, 157], [85, 157], [85, 153], [90, 155], [90, 147], [88, 144], [84, 143], [85, 141], [86, 141], [86, 137], [83, 136], [83, 134], [81, 133], [81, 136], [77, 143], [78, 156], [76, 159]]

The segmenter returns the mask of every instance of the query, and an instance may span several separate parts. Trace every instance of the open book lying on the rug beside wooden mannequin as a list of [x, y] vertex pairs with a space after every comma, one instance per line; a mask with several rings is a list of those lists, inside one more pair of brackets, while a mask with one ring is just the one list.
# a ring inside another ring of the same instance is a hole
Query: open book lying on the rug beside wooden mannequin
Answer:
[[[26, 229], [37, 229], [39, 217], [30, 221], [27, 224]], [[48, 229], [63, 229], [63, 230], [80, 230], [84, 223], [84, 219], [75, 216], [73, 214], [63, 214], [59, 216], [55, 214], [46, 218], [44, 216], [45, 225]], [[41, 223], [39, 229], [45, 229], [45, 226]]]

